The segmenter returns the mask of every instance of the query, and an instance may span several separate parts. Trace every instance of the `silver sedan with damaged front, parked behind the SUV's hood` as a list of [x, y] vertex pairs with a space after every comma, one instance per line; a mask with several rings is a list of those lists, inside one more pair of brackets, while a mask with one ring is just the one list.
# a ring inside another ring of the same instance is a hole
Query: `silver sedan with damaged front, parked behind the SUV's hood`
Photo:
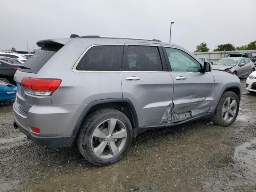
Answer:
[[218, 60], [212, 69], [225, 71], [238, 77], [248, 76], [255, 71], [254, 63], [248, 58], [228, 57]]

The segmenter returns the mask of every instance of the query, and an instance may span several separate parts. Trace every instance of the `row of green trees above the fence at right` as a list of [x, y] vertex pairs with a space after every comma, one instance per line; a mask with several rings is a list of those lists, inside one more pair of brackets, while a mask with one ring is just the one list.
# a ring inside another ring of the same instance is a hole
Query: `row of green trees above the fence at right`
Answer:
[[[196, 46], [194, 52], [208, 52], [210, 49], [207, 47], [205, 42], [202, 42]], [[235, 50], [256, 50], [256, 41], [250, 42], [248, 45], [242, 45], [240, 47], [234, 47], [230, 43], [221, 44], [216, 47], [213, 51], [235, 51]]]

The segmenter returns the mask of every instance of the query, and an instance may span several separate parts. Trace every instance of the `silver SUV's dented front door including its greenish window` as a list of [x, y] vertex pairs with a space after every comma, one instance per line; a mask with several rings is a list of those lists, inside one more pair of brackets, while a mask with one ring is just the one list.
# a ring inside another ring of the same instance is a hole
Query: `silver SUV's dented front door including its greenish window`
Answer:
[[212, 74], [201, 72], [201, 64], [185, 50], [167, 46], [163, 50], [174, 80], [173, 120], [206, 114], [214, 100]]

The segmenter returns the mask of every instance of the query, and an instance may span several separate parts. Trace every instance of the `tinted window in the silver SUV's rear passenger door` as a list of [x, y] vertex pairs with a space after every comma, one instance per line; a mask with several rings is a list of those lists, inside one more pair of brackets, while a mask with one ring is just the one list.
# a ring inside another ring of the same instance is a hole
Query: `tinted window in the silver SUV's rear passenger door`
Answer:
[[128, 45], [122, 64], [123, 71], [163, 71], [158, 47]]

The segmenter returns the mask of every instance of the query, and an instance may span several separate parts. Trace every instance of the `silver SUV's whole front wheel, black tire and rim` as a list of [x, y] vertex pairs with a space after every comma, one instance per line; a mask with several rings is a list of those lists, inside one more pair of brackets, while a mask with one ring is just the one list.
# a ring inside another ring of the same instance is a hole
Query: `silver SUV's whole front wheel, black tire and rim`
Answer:
[[212, 116], [212, 121], [217, 125], [230, 126], [236, 120], [238, 111], [238, 96], [232, 91], [224, 92]]

